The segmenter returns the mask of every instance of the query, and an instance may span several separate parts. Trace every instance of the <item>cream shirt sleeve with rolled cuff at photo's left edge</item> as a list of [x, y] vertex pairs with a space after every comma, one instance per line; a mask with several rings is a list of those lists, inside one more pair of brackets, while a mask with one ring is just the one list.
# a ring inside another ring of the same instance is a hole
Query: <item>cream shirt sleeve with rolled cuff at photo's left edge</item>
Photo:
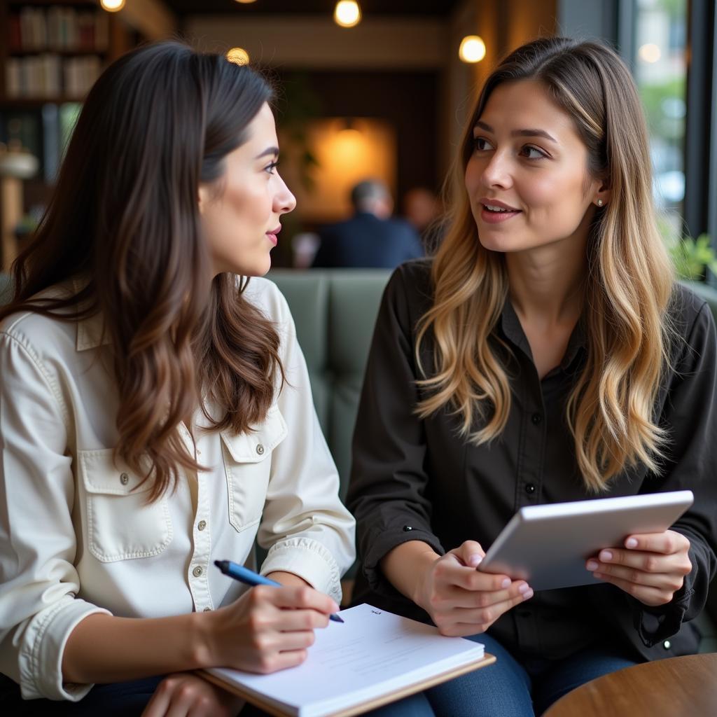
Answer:
[[0, 672], [25, 699], [77, 701], [62, 681], [70, 632], [94, 612], [76, 599], [75, 494], [67, 411], [22, 336], [0, 333]]

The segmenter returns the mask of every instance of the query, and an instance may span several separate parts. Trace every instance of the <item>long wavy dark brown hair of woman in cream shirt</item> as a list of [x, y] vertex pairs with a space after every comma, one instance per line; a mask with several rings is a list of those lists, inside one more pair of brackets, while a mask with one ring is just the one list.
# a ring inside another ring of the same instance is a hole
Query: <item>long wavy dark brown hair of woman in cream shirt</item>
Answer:
[[[212, 280], [198, 204], [200, 183], [221, 189], [224, 158], [271, 96], [249, 67], [180, 42], [125, 54], [90, 90], [47, 212], [13, 266], [14, 301], [0, 318], [102, 315], [120, 397], [115, 457], [153, 479], [150, 500], [180, 467], [201, 469], [182, 420], [201, 405], [215, 429], [246, 432], [284, 378], [275, 328], [242, 295], [247, 280]], [[75, 276], [83, 288], [69, 298], [37, 296]]]

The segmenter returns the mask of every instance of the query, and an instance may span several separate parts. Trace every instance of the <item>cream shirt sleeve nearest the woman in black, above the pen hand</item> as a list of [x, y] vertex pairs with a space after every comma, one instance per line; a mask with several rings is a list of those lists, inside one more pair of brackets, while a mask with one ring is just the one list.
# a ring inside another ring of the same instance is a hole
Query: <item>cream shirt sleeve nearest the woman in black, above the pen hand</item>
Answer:
[[306, 362], [290, 310], [271, 285], [286, 381], [278, 407], [288, 435], [274, 450], [257, 539], [269, 548], [262, 574], [294, 573], [341, 602], [341, 575], [356, 555], [355, 521], [338, 497], [338, 472], [311, 398]]

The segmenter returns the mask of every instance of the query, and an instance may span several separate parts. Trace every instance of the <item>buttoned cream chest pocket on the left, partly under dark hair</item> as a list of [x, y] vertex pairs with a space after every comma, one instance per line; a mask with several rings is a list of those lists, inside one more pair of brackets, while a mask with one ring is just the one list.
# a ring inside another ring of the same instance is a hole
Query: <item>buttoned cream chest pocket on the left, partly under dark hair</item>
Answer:
[[87, 508], [87, 548], [103, 563], [160, 554], [172, 540], [166, 495], [147, 503], [151, 478], [112, 459], [112, 450], [79, 452]]

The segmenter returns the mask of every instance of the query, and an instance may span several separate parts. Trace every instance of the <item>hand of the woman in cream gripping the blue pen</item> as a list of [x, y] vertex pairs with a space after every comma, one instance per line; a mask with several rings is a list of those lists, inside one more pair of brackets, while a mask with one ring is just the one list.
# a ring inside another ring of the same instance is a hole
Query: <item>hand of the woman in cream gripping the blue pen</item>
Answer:
[[310, 587], [259, 585], [236, 602], [206, 613], [207, 667], [272, 673], [306, 659], [314, 630], [338, 610], [330, 597]]

